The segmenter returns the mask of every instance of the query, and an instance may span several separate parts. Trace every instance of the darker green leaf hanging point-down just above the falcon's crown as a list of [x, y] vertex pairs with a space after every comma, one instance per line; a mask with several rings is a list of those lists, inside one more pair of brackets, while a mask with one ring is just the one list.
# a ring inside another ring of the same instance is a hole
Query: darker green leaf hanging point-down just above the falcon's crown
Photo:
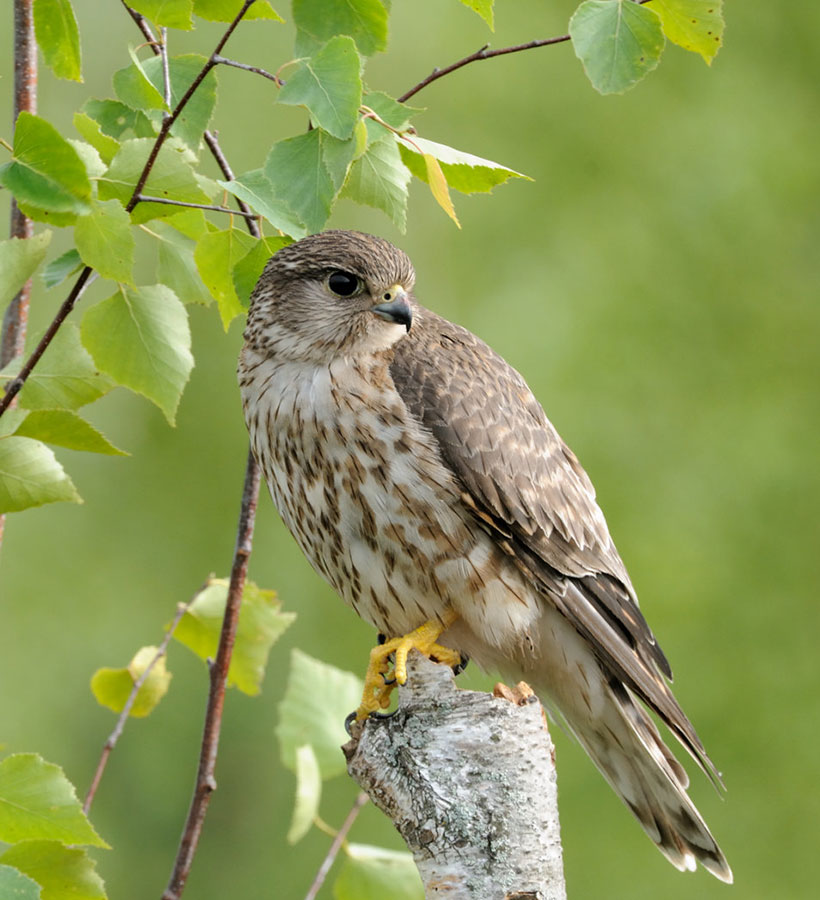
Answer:
[[322, 230], [336, 196], [322, 159], [320, 135], [320, 129], [314, 128], [307, 134], [277, 141], [264, 168], [274, 196], [293, 210], [309, 232]]

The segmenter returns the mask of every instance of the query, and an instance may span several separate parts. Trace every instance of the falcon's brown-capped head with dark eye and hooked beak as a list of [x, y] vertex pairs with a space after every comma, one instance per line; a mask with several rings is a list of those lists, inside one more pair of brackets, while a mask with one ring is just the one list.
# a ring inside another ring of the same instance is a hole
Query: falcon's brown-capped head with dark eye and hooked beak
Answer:
[[415, 273], [401, 250], [358, 231], [325, 231], [275, 253], [248, 312], [253, 349], [299, 361], [378, 352], [409, 330]]

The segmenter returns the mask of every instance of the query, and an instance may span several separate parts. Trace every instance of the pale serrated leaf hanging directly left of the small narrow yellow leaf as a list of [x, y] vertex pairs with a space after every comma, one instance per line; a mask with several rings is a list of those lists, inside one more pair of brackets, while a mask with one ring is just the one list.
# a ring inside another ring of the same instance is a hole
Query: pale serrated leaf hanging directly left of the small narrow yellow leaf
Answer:
[[407, 223], [410, 171], [394, 139], [371, 144], [350, 167], [343, 197], [386, 212], [400, 231]]

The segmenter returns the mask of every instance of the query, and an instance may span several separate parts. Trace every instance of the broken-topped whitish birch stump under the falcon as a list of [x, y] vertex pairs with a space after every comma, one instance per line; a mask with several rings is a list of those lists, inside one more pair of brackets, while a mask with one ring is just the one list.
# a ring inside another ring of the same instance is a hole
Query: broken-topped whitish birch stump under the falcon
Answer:
[[538, 698], [462, 691], [416, 651], [392, 716], [355, 723], [348, 772], [413, 853], [427, 898], [565, 900], [554, 750]]

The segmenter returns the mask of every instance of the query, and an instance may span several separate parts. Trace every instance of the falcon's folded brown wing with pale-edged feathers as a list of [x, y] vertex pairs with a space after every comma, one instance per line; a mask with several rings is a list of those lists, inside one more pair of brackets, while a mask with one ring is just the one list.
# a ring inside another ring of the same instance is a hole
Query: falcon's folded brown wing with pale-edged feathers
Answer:
[[671, 678], [669, 663], [638, 608], [592, 483], [521, 375], [475, 335], [425, 309], [396, 344], [390, 373], [478, 520], [507, 542], [607, 670], [710, 769], [663, 678]]

